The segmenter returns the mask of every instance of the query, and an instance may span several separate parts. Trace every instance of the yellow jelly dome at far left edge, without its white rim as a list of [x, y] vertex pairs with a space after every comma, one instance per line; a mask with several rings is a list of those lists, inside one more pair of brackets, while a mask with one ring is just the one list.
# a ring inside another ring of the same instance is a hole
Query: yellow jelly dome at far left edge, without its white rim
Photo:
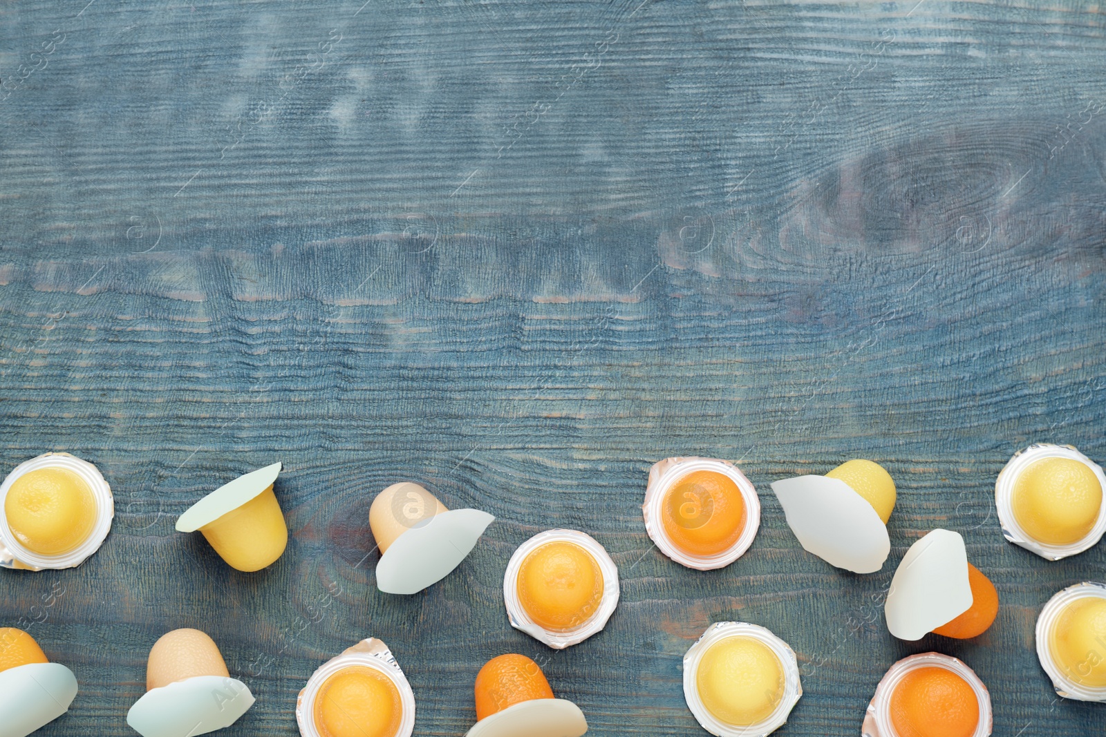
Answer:
[[39, 468], [15, 480], [3, 512], [20, 545], [42, 556], [58, 556], [88, 539], [96, 524], [96, 497], [69, 468]]

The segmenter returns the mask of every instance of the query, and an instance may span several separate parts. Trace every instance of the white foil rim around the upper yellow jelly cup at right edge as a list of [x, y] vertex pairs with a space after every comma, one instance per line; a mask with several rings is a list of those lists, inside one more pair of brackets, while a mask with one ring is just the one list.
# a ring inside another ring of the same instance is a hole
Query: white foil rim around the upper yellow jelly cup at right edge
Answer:
[[1018, 476], [1023, 471], [1043, 459], [1070, 459], [1085, 464], [1098, 478], [1104, 493], [1106, 493], [1106, 475], [1103, 474], [1102, 466], [1083, 453], [1079, 453], [1075, 448], [1071, 445], [1053, 445], [1051, 443], [1037, 443], [1014, 453], [1014, 456], [999, 472], [999, 477], [994, 483], [994, 503], [999, 510], [1002, 536], [1014, 545], [1035, 552], [1046, 560], [1060, 560], [1061, 558], [1083, 552], [1102, 539], [1103, 534], [1106, 533], [1106, 503], [1099, 507], [1098, 518], [1095, 520], [1091, 531], [1082, 539], [1068, 545], [1054, 545], [1034, 539], [1018, 524], [1018, 518], [1014, 516], [1014, 486], [1018, 483]]

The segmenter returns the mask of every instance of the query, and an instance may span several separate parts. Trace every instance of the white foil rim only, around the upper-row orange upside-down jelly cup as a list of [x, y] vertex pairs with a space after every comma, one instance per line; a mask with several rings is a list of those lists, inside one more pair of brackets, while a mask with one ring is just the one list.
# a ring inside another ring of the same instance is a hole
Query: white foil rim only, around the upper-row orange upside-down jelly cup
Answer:
[[[696, 471], [711, 471], [730, 478], [741, 492], [745, 505], [744, 529], [741, 536], [729, 548], [716, 555], [695, 555], [680, 549], [661, 522], [665, 493], [678, 481]], [[744, 555], [753, 544], [757, 530], [760, 529], [760, 498], [757, 496], [757, 488], [735, 465], [718, 459], [671, 457], [655, 463], [649, 468], [649, 483], [645, 491], [641, 513], [645, 516], [645, 529], [657, 544], [657, 548], [681, 566], [696, 570], [713, 570], [729, 566]]]

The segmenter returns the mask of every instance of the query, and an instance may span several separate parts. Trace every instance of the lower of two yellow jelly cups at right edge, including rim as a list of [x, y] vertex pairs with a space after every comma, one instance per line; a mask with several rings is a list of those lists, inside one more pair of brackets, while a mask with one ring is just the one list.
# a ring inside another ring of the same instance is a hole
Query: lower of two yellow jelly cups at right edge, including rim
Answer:
[[1041, 667], [1058, 695], [1106, 702], [1106, 583], [1057, 592], [1041, 610], [1035, 634]]

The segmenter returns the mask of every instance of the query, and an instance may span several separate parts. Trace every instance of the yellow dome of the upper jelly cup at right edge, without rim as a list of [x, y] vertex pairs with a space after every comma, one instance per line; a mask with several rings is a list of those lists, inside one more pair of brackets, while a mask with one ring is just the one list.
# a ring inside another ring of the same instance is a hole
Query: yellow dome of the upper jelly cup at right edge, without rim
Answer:
[[1103, 487], [1095, 472], [1074, 459], [1041, 459], [1014, 481], [1014, 518], [1035, 540], [1068, 545], [1098, 520]]

